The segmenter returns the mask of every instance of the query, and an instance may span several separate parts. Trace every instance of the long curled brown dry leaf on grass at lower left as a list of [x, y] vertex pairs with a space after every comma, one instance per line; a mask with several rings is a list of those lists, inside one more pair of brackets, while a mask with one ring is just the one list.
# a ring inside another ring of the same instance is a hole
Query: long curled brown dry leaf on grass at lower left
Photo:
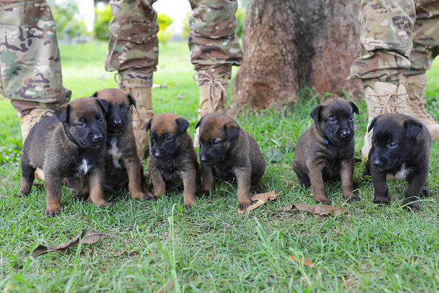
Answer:
[[[37, 248], [32, 251], [32, 257], [38, 257], [39, 255], [45, 255], [46, 253], [49, 253], [49, 251], [58, 251], [58, 253], [66, 253], [67, 248], [71, 246], [75, 246], [80, 244], [95, 244], [99, 239], [101, 239], [101, 236], [103, 234], [95, 231], [95, 230], [84, 230], [82, 233], [76, 237], [73, 237], [69, 242], [66, 244], [61, 244], [57, 246], [45, 246], [45, 245], [38, 245]], [[25, 257], [29, 255], [30, 252], [25, 253]]]

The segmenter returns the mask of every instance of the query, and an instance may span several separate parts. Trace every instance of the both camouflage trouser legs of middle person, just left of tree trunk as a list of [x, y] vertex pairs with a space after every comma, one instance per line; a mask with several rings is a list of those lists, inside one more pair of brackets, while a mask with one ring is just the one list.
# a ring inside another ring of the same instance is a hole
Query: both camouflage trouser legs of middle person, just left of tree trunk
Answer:
[[[123, 79], [138, 78], [150, 86], [158, 64], [154, 2], [156, 0], [110, 0], [111, 37], [105, 63], [107, 71], [119, 71]], [[231, 66], [241, 65], [243, 58], [235, 34], [237, 1], [189, 2], [192, 11], [188, 43], [194, 69], [208, 73], [213, 79], [230, 75]]]

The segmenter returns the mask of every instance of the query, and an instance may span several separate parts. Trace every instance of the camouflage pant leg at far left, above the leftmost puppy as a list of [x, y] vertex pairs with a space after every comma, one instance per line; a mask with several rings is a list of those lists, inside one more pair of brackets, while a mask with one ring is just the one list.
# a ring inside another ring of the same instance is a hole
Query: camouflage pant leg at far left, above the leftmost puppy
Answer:
[[0, 93], [21, 115], [69, 102], [56, 25], [45, 0], [0, 1]]

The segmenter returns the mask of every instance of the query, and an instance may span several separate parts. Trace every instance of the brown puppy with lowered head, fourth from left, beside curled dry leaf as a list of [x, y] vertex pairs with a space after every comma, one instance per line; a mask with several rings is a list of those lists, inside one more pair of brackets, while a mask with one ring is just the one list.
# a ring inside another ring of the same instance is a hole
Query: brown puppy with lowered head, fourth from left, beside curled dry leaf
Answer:
[[253, 137], [237, 121], [224, 114], [210, 113], [197, 122], [200, 127], [200, 165], [203, 191], [215, 188], [215, 177], [237, 179], [239, 209], [252, 204], [250, 189], [261, 192], [259, 179], [265, 172], [265, 159]]

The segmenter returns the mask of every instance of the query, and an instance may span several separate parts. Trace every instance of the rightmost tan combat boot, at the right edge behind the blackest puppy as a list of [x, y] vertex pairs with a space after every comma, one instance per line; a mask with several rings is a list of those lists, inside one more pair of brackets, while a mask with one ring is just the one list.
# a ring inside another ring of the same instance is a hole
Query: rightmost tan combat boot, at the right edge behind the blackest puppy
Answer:
[[425, 88], [427, 87], [427, 75], [403, 76], [401, 82], [407, 91], [407, 110], [405, 115], [410, 115], [427, 126], [431, 134], [431, 140], [439, 139], [439, 124], [425, 111]]

